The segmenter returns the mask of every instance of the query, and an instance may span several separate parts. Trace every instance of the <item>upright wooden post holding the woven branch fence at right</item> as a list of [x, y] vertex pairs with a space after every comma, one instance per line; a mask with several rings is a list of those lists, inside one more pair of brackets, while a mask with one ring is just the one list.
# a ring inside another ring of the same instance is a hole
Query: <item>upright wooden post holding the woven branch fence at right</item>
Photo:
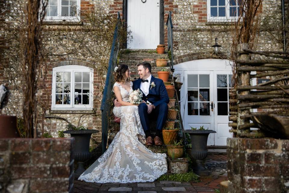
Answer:
[[[247, 43], [241, 43], [237, 46], [237, 51], [239, 52], [237, 54], [237, 60], [248, 60], [249, 57], [248, 57], [248, 54], [247, 53], [240, 53], [240, 52], [243, 52], [244, 50], [243, 49], [248, 49], [248, 44]], [[236, 64], [236, 70], [237, 70], [237, 85], [238, 86], [250, 86], [250, 72], [247, 72], [247, 71], [238, 71], [238, 68], [240, 67], [244, 67], [244, 66], [247, 66], [247, 65], [244, 65], [244, 64], [239, 64], [237, 63]], [[240, 103], [246, 103], [248, 101], [244, 101], [244, 100], [241, 100], [239, 99], [239, 96], [242, 96], [242, 95], [247, 95], [249, 94], [250, 90], [238, 90], [237, 91], [237, 105], [240, 104]], [[242, 130], [240, 131], [241, 133], [250, 133], [250, 127], [249, 128], [244, 128], [244, 125], [250, 125], [248, 123], [250, 123], [250, 119], [248, 118], [243, 118], [241, 119], [241, 116], [243, 115], [246, 115], [246, 114], [249, 114], [250, 112], [250, 109], [240, 109], [238, 108], [238, 115], [237, 115], [237, 129], [241, 129]], [[241, 127], [240, 127], [241, 126]], [[237, 134], [237, 137], [238, 134]]]

